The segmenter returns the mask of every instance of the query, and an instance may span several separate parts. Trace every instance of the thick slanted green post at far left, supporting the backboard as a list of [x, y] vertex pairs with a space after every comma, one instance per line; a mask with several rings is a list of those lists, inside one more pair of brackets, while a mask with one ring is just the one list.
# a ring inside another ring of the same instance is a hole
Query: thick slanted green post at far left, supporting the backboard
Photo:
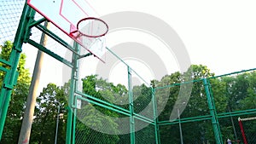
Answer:
[[3, 127], [5, 124], [5, 119], [8, 112], [9, 101], [12, 94], [12, 90], [18, 78], [17, 66], [20, 60], [21, 47], [24, 40], [26, 39], [26, 36], [24, 34], [28, 33], [26, 31], [30, 31], [29, 29], [27, 29], [27, 24], [30, 20], [28, 19], [29, 18], [28, 16], [31, 13], [31, 11], [32, 9], [25, 4], [20, 17], [18, 30], [15, 35], [14, 46], [12, 48], [12, 51], [8, 60], [10, 69], [9, 71], [6, 72], [6, 75], [3, 79], [3, 85], [1, 89], [1, 95], [0, 95], [0, 140], [2, 139]]

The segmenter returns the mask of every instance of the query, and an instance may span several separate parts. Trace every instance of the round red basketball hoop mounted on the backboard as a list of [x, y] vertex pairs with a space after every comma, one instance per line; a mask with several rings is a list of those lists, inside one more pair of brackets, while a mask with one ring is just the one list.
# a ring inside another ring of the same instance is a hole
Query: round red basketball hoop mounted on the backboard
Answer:
[[95, 17], [87, 17], [79, 20], [77, 24], [77, 31], [74, 32], [79, 32], [79, 37], [102, 37], [105, 36], [108, 32], [108, 24], [101, 19]]

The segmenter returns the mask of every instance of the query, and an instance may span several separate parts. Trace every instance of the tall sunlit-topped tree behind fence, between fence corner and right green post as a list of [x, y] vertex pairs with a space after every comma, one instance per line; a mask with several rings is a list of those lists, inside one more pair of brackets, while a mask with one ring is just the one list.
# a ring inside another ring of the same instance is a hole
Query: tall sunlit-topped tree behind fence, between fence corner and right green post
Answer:
[[[181, 89], [181, 86], [189, 86], [186, 84], [180, 85], [180, 83], [191, 79], [191, 76], [193, 79], [195, 79], [192, 85], [191, 94], [189, 94], [189, 91], [180, 93], [180, 90], [183, 90]], [[156, 95], [158, 97], [158, 106], [161, 106], [161, 103], [167, 101], [166, 107], [164, 108], [163, 112], [160, 113], [160, 120], [169, 120], [171, 112], [177, 112], [177, 110], [172, 111], [172, 109], [174, 108], [175, 102], [177, 101], [177, 96], [180, 94], [190, 95], [188, 103], [184, 103], [185, 109], [181, 113], [181, 118], [191, 118], [209, 114], [207, 95], [205, 92], [204, 84], [200, 79], [212, 76], [214, 76], [214, 73], [210, 72], [207, 66], [191, 65], [187, 72], [175, 72], [170, 76], [165, 76], [162, 78], [157, 85], [170, 84], [170, 86], [166, 87], [165, 89], [157, 89], [156, 91]], [[212, 80], [212, 84], [214, 86], [218, 85], [218, 80]], [[169, 94], [167, 99], [165, 96], [166, 94]], [[220, 92], [214, 91], [214, 94], [218, 95]], [[222, 103], [220, 102], [217, 105], [222, 105]], [[183, 103], [180, 103], [180, 105], [182, 104]], [[182, 125], [184, 143], [201, 143], [202, 141], [214, 141], [213, 135], [207, 135], [212, 131], [212, 124], [209, 123], [209, 121], [186, 123]], [[191, 133], [191, 130], [193, 130], [193, 133]], [[162, 126], [160, 129], [160, 135], [162, 136], [161, 143], [169, 143], [170, 141], [172, 141], [172, 143], [180, 142], [180, 140], [177, 139], [177, 137], [179, 137], [179, 133], [173, 133], [172, 131], [179, 131], [177, 124]]]

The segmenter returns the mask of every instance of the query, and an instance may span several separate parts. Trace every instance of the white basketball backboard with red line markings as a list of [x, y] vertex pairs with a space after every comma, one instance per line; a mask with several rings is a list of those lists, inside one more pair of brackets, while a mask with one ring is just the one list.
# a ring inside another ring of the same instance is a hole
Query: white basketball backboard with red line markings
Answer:
[[[77, 37], [79, 20], [86, 17], [97, 17], [95, 9], [86, 0], [27, 0], [27, 4], [61, 29], [67, 36], [73, 38], [84, 49], [102, 60], [102, 55], [105, 53], [104, 37]], [[101, 45], [102, 48], [96, 45]], [[102, 61], [104, 62], [104, 60]]]

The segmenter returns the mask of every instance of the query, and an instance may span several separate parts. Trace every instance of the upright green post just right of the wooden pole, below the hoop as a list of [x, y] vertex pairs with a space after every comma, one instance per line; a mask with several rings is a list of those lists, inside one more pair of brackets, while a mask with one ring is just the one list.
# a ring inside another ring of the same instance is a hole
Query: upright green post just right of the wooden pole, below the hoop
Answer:
[[[74, 48], [77, 52], [79, 52], [79, 44], [74, 43]], [[74, 116], [74, 93], [77, 89], [77, 84], [78, 84], [78, 60], [79, 60], [79, 55], [76, 55], [73, 53], [73, 68], [72, 68], [72, 73], [71, 73], [71, 81], [70, 81], [70, 94], [68, 97], [68, 107], [67, 107], [67, 136], [66, 136], [66, 144], [71, 144], [75, 142], [75, 117]], [[73, 124], [74, 123], [74, 124]]]

